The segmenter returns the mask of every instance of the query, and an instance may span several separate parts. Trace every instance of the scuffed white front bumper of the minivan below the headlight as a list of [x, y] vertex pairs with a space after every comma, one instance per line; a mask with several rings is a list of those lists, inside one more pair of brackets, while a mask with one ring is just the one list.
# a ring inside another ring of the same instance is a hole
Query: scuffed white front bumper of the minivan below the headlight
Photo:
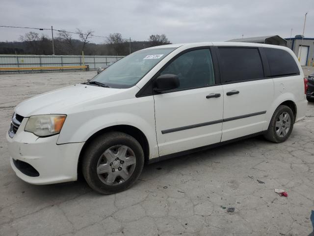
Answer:
[[[32, 184], [77, 180], [78, 156], [84, 143], [57, 145], [56, 141], [59, 135], [39, 138], [32, 133], [25, 132], [26, 121], [27, 118], [23, 120], [13, 138], [10, 138], [8, 133], [6, 134], [11, 167], [16, 175]], [[13, 159], [16, 160], [15, 164]], [[16, 165], [17, 161], [32, 166], [39, 176], [31, 176], [23, 171], [19, 165]]]

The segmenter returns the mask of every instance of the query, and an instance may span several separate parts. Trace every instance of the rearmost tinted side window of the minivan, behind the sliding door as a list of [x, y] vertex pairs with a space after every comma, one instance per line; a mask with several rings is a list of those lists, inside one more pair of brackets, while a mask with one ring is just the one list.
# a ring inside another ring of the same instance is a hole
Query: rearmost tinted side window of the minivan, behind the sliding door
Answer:
[[292, 56], [285, 50], [264, 48], [268, 59], [271, 76], [300, 74], [299, 68]]

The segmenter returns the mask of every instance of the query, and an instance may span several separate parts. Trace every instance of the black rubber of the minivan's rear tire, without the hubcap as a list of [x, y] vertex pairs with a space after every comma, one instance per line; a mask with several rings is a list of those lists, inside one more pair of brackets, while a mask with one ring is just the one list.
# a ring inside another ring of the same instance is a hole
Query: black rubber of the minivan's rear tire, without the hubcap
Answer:
[[[288, 130], [288, 132], [286, 133], [284, 137], [280, 137], [276, 132], [276, 122], [279, 116], [283, 113], [288, 113], [288, 115], [290, 116], [290, 129]], [[292, 110], [286, 105], [280, 105], [279, 107], [277, 107], [277, 109], [275, 110], [270, 120], [267, 132], [266, 134], [264, 134], [264, 138], [274, 143], [285, 142], [292, 132], [294, 119], [295, 118], [293, 116]]]

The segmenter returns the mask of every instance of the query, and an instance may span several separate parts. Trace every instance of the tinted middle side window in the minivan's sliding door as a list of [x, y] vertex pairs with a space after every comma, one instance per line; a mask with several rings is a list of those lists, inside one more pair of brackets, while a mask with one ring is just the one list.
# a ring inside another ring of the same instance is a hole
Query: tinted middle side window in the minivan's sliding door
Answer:
[[257, 48], [219, 48], [222, 82], [241, 82], [264, 77]]

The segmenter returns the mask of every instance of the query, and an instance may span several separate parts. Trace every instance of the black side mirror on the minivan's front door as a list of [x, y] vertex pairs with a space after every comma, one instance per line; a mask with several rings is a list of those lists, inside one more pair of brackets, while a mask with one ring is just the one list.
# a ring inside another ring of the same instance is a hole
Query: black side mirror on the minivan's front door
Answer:
[[162, 93], [163, 91], [170, 89], [177, 89], [180, 87], [180, 80], [177, 75], [164, 74], [159, 75], [155, 80], [154, 91]]

